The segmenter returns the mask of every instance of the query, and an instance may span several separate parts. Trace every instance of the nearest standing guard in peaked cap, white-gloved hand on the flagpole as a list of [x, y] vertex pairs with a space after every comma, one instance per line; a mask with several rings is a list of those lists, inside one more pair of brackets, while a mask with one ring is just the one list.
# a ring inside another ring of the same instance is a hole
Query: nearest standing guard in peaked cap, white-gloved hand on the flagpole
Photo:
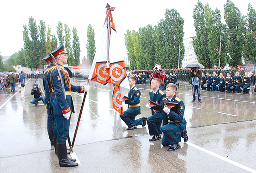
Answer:
[[[60, 167], [73, 167], [78, 166], [78, 163], [75, 163], [75, 159], [68, 158], [66, 140], [69, 132], [70, 124], [70, 115], [74, 112], [71, 92], [80, 92], [84, 93], [89, 90], [88, 87], [84, 86], [73, 86], [70, 83], [70, 78], [68, 71], [65, 70], [63, 65], [67, 63], [68, 56], [67, 52], [64, 49], [64, 46], [61, 45], [54, 51], [52, 51], [52, 56], [56, 58], [58, 67], [60, 69], [60, 74], [57, 71], [57, 66], [53, 66], [50, 72], [50, 85], [52, 86], [55, 96], [51, 98], [51, 113], [54, 116], [54, 121], [56, 122], [57, 129], [57, 156], [59, 158]], [[64, 83], [61, 83], [61, 78]], [[65, 93], [63, 92], [63, 87]], [[65, 97], [66, 95], [66, 97]]]

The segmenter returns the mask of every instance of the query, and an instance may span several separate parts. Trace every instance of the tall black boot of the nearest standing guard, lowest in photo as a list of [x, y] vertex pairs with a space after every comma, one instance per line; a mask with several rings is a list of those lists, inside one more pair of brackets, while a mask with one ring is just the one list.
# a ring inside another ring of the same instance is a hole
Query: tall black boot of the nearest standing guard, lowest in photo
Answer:
[[57, 144], [57, 150], [60, 167], [78, 166], [78, 163], [75, 163], [68, 159], [66, 142], [63, 144]]

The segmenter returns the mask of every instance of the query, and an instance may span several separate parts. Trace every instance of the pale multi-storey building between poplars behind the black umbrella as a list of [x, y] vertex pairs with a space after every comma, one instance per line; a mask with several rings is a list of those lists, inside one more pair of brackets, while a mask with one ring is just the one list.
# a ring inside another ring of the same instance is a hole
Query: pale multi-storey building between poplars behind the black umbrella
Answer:
[[198, 63], [197, 56], [194, 52], [193, 47], [193, 37], [189, 37], [183, 40], [183, 45], [185, 47], [184, 58], [182, 60], [182, 68], [186, 67], [188, 64]]

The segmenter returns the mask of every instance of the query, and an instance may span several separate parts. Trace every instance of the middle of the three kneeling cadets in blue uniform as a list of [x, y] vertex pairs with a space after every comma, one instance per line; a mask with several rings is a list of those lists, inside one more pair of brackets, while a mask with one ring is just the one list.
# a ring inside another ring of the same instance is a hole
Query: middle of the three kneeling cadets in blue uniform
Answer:
[[151, 107], [149, 104], [146, 104], [146, 107], [151, 109], [152, 116], [147, 118], [147, 126], [149, 130], [149, 135], [153, 135], [149, 141], [156, 141], [161, 139], [162, 131], [161, 124], [162, 119], [165, 115], [163, 112], [162, 101], [166, 97], [165, 93], [159, 88], [161, 80], [158, 78], [153, 78], [151, 81], [151, 89], [149, 92], [150, 101], [157, 104], [158, 107]]

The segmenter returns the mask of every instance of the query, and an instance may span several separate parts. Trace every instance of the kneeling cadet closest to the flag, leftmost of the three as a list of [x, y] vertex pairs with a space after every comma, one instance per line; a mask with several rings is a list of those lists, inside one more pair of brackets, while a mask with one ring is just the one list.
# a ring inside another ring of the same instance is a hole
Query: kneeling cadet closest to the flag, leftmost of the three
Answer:
[[128, 100], [125, 100], [125, 104], [129, 105], [129, 108], [124, 112], [124, 115], [120, 115], [120, 118], [127, 124], [128, 128], [126, 130], [136, 129], [136, 126], [146, 125], [146, 117], [139, 118], [135, 120], [135, 117], [141, 114], [141, 105], [140, 97], [141, 91], [136, 87], [136, 78], [131, 76], [128, 79], [129, 85], [131, 87], [130, 92], [128, 93]]

